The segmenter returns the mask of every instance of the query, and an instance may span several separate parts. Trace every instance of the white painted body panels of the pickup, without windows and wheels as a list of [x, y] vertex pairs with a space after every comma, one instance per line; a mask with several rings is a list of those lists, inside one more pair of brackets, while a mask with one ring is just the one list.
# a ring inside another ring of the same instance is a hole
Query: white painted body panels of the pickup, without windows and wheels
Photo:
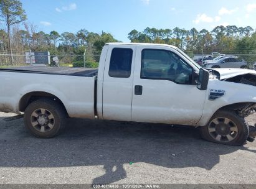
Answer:
[[[111, 50], [131, 48], [133, 59], [129, 78], [108, 75]], [[39, 73], [7, 72], [0, 70], [0, 111], [19, 113], [22, 96], [42, 91], [57, 96], [71, 118], [95, 118], [95, 80], [97, 80], [97, 116], [118, 121], [158, 122], [204, 126], [223, 106], [234, 103], [256, 103], [256, 87], [209, 79], [207, 90], [196, 85], [179, 85], [169, 80], [140, 78], [141, 50], [144, 48], [169, 50], [183, 58], [194, 71], [199, 67], [178, 48], [157, 44], [107, 44], [100, 57], [98, 76], [47, 75]], [[251, 73], [254, 70], [216, 69], [220, 79]], [[135, 85], [143, 86], [143, 94], [135, 95]], [[210, 101], [209, 90], [225, 90], [225, 95]]]

